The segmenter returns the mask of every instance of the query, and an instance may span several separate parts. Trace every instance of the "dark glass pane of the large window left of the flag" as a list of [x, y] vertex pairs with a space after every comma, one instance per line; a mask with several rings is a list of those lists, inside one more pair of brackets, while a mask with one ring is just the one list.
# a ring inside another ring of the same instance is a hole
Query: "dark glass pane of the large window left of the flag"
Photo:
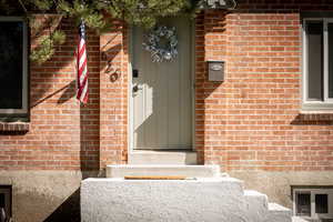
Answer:
[[0, 109], [22, 109], [23, 23], [0, 22]]

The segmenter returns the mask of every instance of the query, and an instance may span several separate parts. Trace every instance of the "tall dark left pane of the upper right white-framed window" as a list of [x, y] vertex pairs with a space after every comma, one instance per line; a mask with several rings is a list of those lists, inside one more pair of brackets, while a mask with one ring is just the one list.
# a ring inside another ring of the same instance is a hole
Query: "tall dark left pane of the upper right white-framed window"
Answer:
[[323, 22], [306, 22], [307, 99], [323, 100]]

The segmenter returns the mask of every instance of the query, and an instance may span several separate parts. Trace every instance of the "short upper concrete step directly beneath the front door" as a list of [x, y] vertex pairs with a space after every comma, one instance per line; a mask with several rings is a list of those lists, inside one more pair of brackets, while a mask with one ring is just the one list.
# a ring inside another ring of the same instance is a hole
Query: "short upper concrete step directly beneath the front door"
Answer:
[[133, 151], [129, 154], [129, 164], [196, 164], [196, 152], [193, 151]]

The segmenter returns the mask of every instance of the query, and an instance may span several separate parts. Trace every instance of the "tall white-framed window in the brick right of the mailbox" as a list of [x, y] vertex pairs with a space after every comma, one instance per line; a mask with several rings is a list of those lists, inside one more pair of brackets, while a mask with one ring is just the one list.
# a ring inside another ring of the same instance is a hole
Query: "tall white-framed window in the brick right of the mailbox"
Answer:
[[303, 108], [333, 109], [333, 19], [304, 19], [303, 44]]

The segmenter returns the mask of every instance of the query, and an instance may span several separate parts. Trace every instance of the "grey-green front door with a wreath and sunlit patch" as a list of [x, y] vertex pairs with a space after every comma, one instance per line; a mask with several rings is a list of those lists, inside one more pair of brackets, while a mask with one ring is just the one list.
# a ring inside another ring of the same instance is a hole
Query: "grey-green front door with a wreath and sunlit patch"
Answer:
[[[137, 150], [192, 149], [191, 23], [171, 18], [159, 26], [175, 28], [178, 54], [172, 61], [153, 62], [142, 44], [149, 31], [132, 29], [132, 145]], [[168, 39], [159, 46], [168, 46]]]

